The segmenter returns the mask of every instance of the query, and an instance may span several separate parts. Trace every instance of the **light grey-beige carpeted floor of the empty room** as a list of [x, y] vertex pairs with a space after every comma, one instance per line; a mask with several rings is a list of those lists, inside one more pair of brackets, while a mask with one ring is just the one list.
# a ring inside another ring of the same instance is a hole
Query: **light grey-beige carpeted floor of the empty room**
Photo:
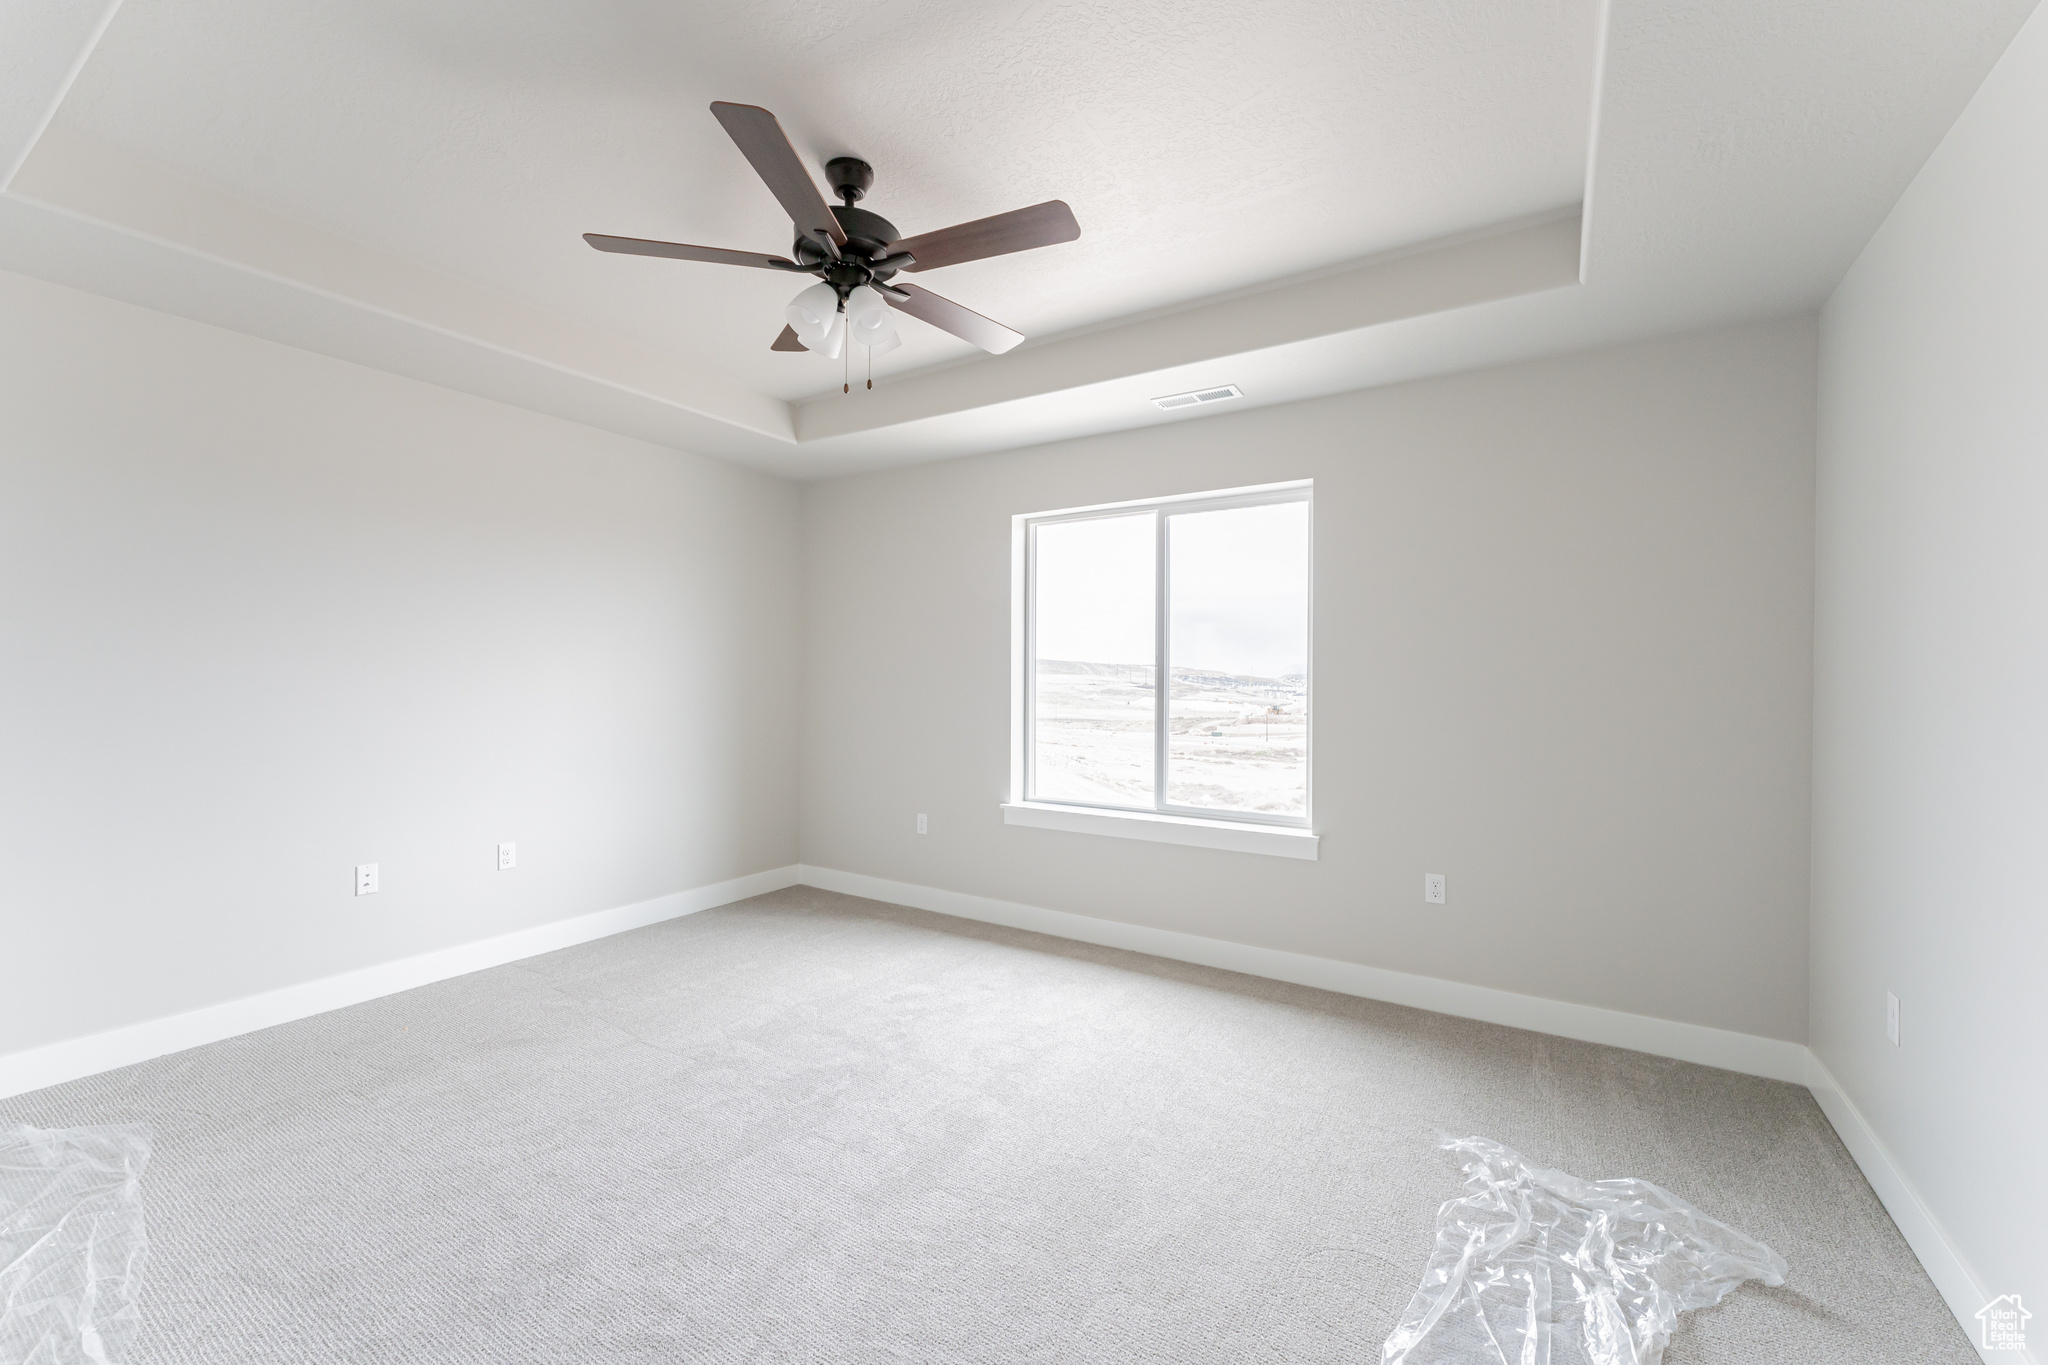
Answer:
[[0, 1101], [129, 1365], [1378, 1361], [1481, 1134], [1769, 1242], [1671, 1365], [1976, 1357], [1798, 1087], [793, 888]]

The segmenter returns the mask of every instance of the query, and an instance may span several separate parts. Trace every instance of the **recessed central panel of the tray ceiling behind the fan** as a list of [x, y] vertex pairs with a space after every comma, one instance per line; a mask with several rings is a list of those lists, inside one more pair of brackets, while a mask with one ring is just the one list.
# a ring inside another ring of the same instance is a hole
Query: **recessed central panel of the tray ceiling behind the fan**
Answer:
[[[59, 123], [776, 397], [793, 280], [582, 231], [786, 250], [707, 113], [877, 166], [905, 233], [1065, 199], [1075, 244], [920, 276], [1030, 336], [1579, 199], [1593, 0], [127, 0]], [[973, 352], [922, 323], [881, 372]]]

